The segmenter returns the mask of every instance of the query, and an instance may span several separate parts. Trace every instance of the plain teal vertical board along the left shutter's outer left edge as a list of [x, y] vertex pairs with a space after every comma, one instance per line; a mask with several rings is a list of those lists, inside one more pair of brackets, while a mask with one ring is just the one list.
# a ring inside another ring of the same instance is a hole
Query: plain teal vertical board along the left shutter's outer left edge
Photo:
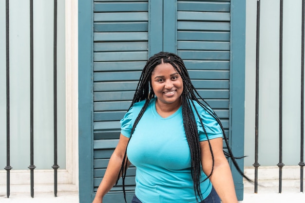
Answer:
[[93, 189], [93, 0], [78, 0], [79, 203], [92, 202]]

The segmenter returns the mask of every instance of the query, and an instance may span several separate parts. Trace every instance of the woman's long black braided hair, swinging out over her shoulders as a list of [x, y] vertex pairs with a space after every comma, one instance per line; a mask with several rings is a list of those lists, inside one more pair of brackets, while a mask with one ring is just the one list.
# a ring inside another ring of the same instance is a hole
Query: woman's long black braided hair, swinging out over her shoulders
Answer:
[[[183, 81], [183, 92], [181, 94], [181, 100], [182, 100], [182, 118], [183, 118], [183, 125], [184, 125], [184, 129], [185, 129], [185, 134], [186, 134], [186, 138], [189, 144], [189, 148], [190, 148], [190, 152], [191, 152], [191, 176], [192, 176], [192, 180], [193, 180], [193, 185], [194, 185], [194, 192], [195, 192], [195, 196], [196, 199], [198, 200], [198, 196], [200, 198], [200, 200], [202, 200], [202, 194], [201, 194], [201, 189], [200, 189], [200, 183], [201, 183], [201, 152], [200, 152], [200, 143], [199, 143], [199, 136], [198, 136], [198, 129], [197, 129], [197, 124], [196, 124], [196, 119], [195, 119], [195, 115], [194, 113], [196, 113], [196, 115], [200, 118], [199, 112], [197, 111], [196, 107], [195, 107], [195, 103], [198, 103], [203, 109], [205, 109], [220, 125], [221, 129], [222, 129], [222, 133], [223, 133], [223, 137], [224, 140], [226, 142], [226, 145], [228, 147], [228, 151], [229, 153], [225, 153], [226, 156], [230, 157], [234, 166], [237, 168], [237, 170], [239, 171], [240, 174], [242, 174], [248, 181], [251, 182], [250, 179], [248, 179], [248, 177], [246, 177], [244, 175], [244, 173], [242, 172], [242, 170], [240, 169], [240, 167], [238, 166], [231, 149], [229, 148], [229, 143], [228, 143], [228, 139], [226, 137], [225, 134], [225, 130], [220, 122], [220, 119], [218, 118], [218, 116], [216, 115], [216, 113], [210, 108], [209, 104], [199, 95], [199, 93], [196, 91], [196, 89], [194, 88], [194, 86], [191, 83], [191, 78], [188, 74], [188, 71], [184, 65], [183, 60], [175, 54], [172, 53], [168, 53], [168, 52], [160, 52], [158, 54], [153, 55], [152, 57], [150, 57], [142, 71], [142, 74], [140, 76], [139, 82], [137, 84], [134, 96], [133, 96], [133, 101], [131, 103], [130, 108], [139, 101], [145, 100], [145, 103], [140, 111], [140, 113], [138, 114], [137, 118], [134, 121], [132, 130], [131, 130], [131, 136], [129, 138], [132, 138], [134, 129], [136, 127], [136, 125], [138, 124], [139, 120], [141, 119], [143, 113], [145, 112], [145, 110], [147, 109], [150, 99], [152, 97], [154, 97], [154, 92], [151, 88], [151, 75], [152, 72], [154, 70], [154, 68], [162, 63], [169, 63], [171, 64], [174, 69], [178, 72], [178, 74], [181, 75], [182, 81]], [[201, 101], [200, 101], [200, 100]], [[129, 109], [130, 109], [129, 108]], [[193, 111], [193, 110], [195, 111]], [[212, 156], [212, 168], [211, 168], [211, 172], [208, 175], [208, 177], [205, 179], [207, 180], [212, 172], [213, 172], [213, 168], [214, 168], [214, 156], [213, 156], [213, 151], [210, 145], [210, 140], [208, 137], [208, 134], [206, 132], [206, 129], [203, 125], [203, 122], [201, 119], [200, 123], [201, 126], [206, 134], [206, 137], [208, 139], [208, 143], [209, 143], [209, 147], [210, 147], [210, 153]], [[122, 175], [122, 183], [123, 183], [123, 193], [124, 193], [124, 199], [126, 202], [126, 192], [125, 192], [125, 177], [126, 177], [126, 171], [127, 171], [127, 147], [125, 150], [125, 154], [123, 157], [123, 161], [122, 161], [122, 165], [121, 165], [121, 169], [119, 172], [119, 175], [117, 177], [117, 181], [116, 184], [120, 178], [120, 175]], [[204, 181], [205, 181], [204, 180]]]

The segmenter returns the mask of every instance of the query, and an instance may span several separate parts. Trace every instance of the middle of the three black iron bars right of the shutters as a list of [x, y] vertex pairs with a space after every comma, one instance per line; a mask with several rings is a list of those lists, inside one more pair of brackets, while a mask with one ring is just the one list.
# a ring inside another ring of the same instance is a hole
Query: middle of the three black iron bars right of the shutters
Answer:
[[283, 0], [280, 0], [280, 90], [279, 90], [279, 193], [282, 193], [283, 169]]

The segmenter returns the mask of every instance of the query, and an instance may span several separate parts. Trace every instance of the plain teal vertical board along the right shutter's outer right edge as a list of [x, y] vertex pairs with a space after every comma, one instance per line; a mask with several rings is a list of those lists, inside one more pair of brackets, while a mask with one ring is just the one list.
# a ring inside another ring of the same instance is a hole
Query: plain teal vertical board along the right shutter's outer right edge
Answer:
[[[244, 156], [246, 1], [231, 0], [230, 11], [229, 144], [235, 157]], [[229, 160], [230, 161], [230, 160]], [[237, 160], [244, 170], [244, 160]], [[235, 190], [243, 200], [243, 177], [231, 163]]]

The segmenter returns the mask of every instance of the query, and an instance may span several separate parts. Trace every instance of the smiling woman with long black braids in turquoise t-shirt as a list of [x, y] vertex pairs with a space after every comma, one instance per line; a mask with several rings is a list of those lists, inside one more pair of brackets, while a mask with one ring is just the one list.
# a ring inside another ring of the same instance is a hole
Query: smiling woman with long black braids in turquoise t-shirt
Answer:
[[[179, 56], [160, 52], [147, 61], [93, 203], [102, 203], [117, 180], [124, 180], [131, 163], [132, 203], [238, 202], [223, 152], [224, 129], [196, 95]], [[125, 198], [124, 185], [123, 191]]]

